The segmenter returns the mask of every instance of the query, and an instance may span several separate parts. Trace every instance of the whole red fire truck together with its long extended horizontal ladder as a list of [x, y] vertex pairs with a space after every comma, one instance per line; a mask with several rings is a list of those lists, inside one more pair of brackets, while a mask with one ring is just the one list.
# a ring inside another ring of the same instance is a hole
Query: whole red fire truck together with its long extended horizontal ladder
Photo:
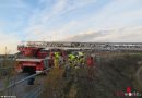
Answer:
[[[139, 46], [134, 47], [133, 46]], [[46, 49], [49, 48], [49, 49]], [[60, 51], [62, 57], [66, 59], [66, 53], [62, 50], [79, 50], [84, 51], [114, 51], [117, 50], [142, 50], [142, 44], [123, 44], [123, 42], [70, 42], [70, 41], [27, 41], [26, 45], [17, 46], [16, 58], [16, 71], [19, 72], [42, 72], [43, 70], [54, 65], [52, 50], [54, 52]]]

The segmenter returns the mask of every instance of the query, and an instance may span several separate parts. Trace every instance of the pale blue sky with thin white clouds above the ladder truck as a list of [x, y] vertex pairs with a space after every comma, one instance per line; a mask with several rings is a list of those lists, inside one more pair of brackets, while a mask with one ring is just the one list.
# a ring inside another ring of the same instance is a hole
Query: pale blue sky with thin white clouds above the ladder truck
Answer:
[[0, 0], [0, 53], [21, 41], [141, 42], [141, 32], [142, 0]]

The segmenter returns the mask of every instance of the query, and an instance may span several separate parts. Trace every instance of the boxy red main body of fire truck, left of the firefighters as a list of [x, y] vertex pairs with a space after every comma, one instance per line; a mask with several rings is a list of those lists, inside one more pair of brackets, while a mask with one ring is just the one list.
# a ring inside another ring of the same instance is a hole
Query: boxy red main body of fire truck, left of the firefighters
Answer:
[[17, 50], [20, 51], [16, 57], [17, 72], [42, 72], [52, 65], [52, 60], [49, 57], [49, 50], [26, 46], [17, 46]]

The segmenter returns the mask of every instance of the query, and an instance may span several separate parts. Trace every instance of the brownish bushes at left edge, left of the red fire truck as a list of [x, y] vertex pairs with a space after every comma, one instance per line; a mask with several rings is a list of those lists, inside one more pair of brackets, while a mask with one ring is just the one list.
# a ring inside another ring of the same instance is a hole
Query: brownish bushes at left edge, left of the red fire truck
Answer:
[[16, 74], [14, 66], [15, 61], [13, 58], [9, 58], [9, 52], [5, 48], [5, 54], [0, 60], [0, 89], [10, 85], [12, 77]]

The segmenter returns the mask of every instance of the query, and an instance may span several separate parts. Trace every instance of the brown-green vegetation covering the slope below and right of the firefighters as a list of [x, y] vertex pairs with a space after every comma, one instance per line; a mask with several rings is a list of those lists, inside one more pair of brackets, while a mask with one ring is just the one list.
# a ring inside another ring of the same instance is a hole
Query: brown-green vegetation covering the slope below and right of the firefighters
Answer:
[[[108, 53], [109, 54], [109, 53]], [[94, 79], [88, 78], [87, 68], [73, 70], [63, 77], [63, 68], [54, 69], [45, 81], [43, 98], [120, 98], [115, 93], [126, 93], [127, 87], [142, 93], [142, 82], [135, 76], [142, 66], [141, 54], [100, 56], [96, 61]], [[76, 76], [78, 75], [78, 76]]]

